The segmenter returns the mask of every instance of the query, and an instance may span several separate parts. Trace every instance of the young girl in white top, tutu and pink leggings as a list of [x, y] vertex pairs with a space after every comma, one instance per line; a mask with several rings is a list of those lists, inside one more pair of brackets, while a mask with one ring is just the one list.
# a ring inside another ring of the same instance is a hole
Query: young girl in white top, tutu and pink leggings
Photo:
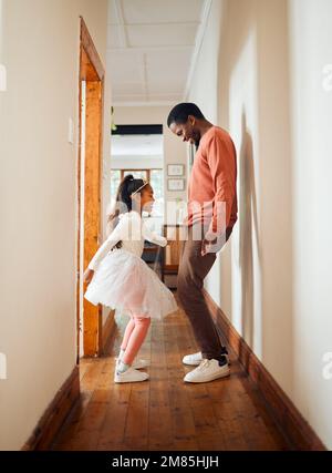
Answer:
[[147, 373], [138, 371], [147, 367], [147, 361], [134, 362], [134, 358], [146, 338], [151, 317], [162, 319], [178, 309], [170, 290], [141, 258], [145, 239], [167, 245], [166, 238], [143, 223], [142, 210], [151, 212], [153, 203], [154, 192], [147, 182], [133, 175], [122, 181], [111, 215], [114, 229], [84, 273], [84, 280], [90, 282], [85, 299], [131, 316], [116, 361], [115, 382], [148, 379]]

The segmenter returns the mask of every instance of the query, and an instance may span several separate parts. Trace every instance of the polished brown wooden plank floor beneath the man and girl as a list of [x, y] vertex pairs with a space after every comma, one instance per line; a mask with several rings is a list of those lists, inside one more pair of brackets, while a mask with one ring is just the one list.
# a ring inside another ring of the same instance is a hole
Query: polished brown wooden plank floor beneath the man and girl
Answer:
[[107, 356], [81, 361], [82, 398], [52, 450], [288, 450], [236, 359], [228, 379], [184, 383], [181, 358], [198, 349], [181, 310], [151, 326], [139, 352], [149, 381], [113, 382], [122, 332]]

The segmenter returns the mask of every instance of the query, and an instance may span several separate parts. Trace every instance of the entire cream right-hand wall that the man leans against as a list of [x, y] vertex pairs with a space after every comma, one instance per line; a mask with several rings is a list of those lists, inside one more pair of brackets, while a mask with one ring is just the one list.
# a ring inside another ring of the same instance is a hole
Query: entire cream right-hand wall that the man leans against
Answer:
[[189, 93], [238, 151], [239, 220], [207, 290], [328, 448], [331, 8], [214, 0]]

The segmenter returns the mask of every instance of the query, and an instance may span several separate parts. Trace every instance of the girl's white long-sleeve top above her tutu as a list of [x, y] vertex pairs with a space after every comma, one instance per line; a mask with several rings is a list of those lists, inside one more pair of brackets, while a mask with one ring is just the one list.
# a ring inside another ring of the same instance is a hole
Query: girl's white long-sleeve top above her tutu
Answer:
[[131, 251], [139, 257], [143, 254], [144, 240], [148, 240], [159, 246], [167, 245], [167, 239], [157, 235], [155, 232], [152, 232], [146, 223], [143, 222], [138, 212], [126, 212], [125, 214], [121, 214], [118, 218], [118, 224], [90, 261], [87, 266], [89, 269], [96, 270], [101, 260], [118, 241], [122, 241], [121, 249]]

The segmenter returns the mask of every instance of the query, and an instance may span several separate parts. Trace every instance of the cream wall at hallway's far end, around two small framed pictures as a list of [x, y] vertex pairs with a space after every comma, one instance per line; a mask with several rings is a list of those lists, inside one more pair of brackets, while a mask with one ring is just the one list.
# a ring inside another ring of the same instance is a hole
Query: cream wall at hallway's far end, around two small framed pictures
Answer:
[[[114, 66], [116, 66], [116, 64], [114, 64]], [[184, 192], [167, 191], [167, 165], [185, 164], [185, 166], [187, 166], [187, 146], [185, 145], [185, 143], [181, 143], [181, 141], [178, 140], [167, 127], [167, 117], [173, 106], [115, 106], [115, 110], [114, 110], [114, 123], [116, 125], [126, 125], [126, 124], [163, 125], [165, 204], [167, 203], [167, 200], [174, 202], [176, 198], [181, 198], [183, 200], [187, 199], [187, 191], [184, 191]], [[112, 162], [112, 167], [115, 167], [113, 162]], [[186, 188], [186, 185], [187, 185], [187, 181], [185, 183], [185, 188]], [[168, 212], [167, 214], [167, 206], [165, 209], [165, 215], [168, 216], [169, 223], [173, 222], [172, 220], [173, 214], [170, 212]]]

